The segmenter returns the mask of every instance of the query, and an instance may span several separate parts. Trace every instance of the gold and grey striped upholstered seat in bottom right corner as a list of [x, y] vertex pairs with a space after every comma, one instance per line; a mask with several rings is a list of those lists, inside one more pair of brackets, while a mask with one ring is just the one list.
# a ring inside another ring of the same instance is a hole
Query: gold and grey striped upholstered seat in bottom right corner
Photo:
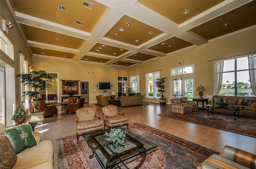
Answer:
[[255, 169], [256, 155], [226, 145], [219, 155], [213, 154], [196, 169]]

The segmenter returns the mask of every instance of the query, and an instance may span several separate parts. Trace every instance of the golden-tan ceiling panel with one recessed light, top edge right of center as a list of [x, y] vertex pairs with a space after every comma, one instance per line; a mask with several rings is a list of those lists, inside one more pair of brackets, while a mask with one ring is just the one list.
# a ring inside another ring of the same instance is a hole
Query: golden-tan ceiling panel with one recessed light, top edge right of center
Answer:
[[[138, 2], [176, 24], [182, 24], [223, 1], [224, 0], [139, 0]], [[189, 10], [189, 12], [182, 14], [184, 10]]]

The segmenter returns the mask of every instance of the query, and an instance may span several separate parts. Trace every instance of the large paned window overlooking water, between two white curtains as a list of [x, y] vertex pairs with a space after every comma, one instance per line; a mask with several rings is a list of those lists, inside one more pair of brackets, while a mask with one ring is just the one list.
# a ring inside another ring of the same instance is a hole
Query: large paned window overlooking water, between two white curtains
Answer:
[[249, 77], [248, 58], [224, 60], [220, 96], [255, 96]]

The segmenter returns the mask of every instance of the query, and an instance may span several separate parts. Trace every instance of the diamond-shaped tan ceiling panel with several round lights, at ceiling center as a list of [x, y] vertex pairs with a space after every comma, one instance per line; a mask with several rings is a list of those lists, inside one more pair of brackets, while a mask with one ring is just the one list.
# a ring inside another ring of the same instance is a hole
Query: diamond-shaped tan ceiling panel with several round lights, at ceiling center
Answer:
[[139, 46], [162, 33], [164, 32], [125, 15], [104, 37]]

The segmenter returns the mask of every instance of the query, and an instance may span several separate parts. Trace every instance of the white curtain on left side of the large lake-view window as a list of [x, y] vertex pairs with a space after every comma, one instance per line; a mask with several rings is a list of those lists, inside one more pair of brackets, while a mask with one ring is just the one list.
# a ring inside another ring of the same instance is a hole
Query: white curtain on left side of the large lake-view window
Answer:
[[213, 96], [217, 95], [221, 89], [223, 65], [223, 59], [213, 60]]

